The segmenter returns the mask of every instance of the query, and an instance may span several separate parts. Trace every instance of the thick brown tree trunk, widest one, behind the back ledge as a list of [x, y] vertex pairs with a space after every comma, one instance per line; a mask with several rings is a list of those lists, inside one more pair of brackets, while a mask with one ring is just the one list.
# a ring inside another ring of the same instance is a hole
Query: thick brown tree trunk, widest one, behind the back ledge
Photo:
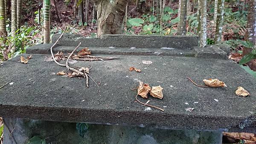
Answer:
[[97, 9], [97, 36], [120, 34], [128, 0], [94, 0], [94, 3]]

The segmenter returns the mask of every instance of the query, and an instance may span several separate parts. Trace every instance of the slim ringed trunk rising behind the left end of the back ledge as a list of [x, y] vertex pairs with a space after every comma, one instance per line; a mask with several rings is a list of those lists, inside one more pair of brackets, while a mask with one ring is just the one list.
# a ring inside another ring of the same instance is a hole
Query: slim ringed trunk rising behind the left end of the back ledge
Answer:
[[50, 0], [44, 0], [44, 43], [50, 42]]

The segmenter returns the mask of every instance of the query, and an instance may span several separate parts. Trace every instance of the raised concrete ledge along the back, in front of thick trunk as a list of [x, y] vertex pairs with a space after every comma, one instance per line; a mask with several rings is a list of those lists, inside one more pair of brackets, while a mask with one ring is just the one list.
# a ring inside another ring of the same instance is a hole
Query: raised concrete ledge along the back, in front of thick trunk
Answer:
[[[60, 35], [53, 35], [52, 43]], [[179, 48], [192, 49], [198, 46], [197, 36], [159, 36], [159, 35], [105, 35], [104, 37], [83, 37], [81, 35], [66, 34], [59, 40], [62, 46], [95, 47], [136, 47], [136, 48]]]

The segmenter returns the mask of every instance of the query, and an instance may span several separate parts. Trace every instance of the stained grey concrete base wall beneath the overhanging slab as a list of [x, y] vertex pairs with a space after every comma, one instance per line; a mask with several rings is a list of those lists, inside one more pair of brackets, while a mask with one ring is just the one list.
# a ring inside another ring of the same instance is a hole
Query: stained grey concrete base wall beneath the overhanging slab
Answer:
[[[4, 144], [26, 144], [29, 138], [46, 138], [47, 144], [221, 144], [221, 131], [166, 130], [87, 124], [84, 136], [76, 132], [75, 123], [6, 118]], [[11, 124], [12, 123], [12, 124]]]

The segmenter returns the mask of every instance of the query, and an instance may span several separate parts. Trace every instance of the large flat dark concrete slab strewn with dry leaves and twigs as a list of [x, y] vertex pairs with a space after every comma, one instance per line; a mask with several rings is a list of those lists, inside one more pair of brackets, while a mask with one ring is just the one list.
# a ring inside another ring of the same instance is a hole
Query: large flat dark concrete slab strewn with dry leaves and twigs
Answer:
[[[28, 64], [14, 58], [0, 66], [0, 83], [14, 82], [0, 89], [1, 116], [168, 129], [243, 128], [241, 131], [256, 132], [256, 79], [232, 60], [110, 55], [120, 59], [106, 63], [79, 61], [72, 66], [92, 66], [91, 76], [99, 84], [98, 88], [89, 81], [87, 88], [84, 79], [51, 75], [65, 68], [44, 61], [45, 56], [49, 55], [33, 55]], [[144, 69], [142, 60], [153, 63]], [[130, 66], [142, 72], [129, 72]], [[203, 84], [203, 79], [218, 78], [228, 87], [197, 87], [187, 76], [199, 84]], [[134, 102], [136, 92], [130, 88], [137, 87], [137, 81], [164, 88], [162, 100], [149, 98], [152, 105], [165, 109], [164, 112], [145, 111], [145, 107]], [[236, 96], [238, 86], [247, 89], [250, 96]], [[187, 112], [188, 107], [195, 109]]]

